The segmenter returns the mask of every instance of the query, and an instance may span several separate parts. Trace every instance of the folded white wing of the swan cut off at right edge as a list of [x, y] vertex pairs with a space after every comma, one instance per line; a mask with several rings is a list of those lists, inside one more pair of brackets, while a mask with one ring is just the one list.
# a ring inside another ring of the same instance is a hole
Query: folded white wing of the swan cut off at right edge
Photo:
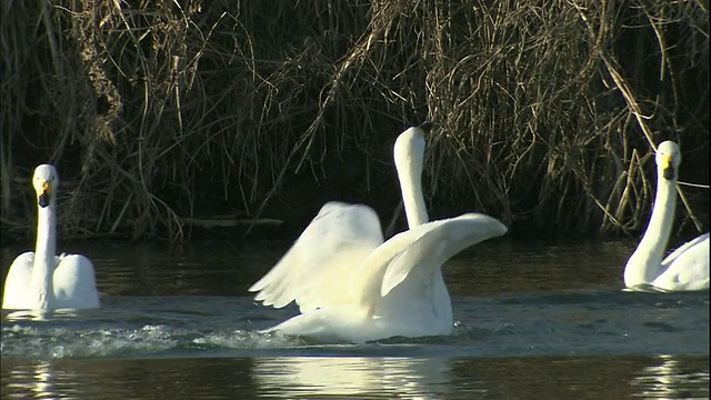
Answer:
[[652, 282], [664, 290], [709, 288], [709, 233], [684, 243], [662, 261], [662, 272]]

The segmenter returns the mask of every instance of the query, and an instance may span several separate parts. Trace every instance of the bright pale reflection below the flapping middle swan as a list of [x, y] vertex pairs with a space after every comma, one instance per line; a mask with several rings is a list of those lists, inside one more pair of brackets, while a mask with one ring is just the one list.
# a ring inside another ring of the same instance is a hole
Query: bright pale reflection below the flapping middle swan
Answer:
[[379, 396], [444, 398], [451, 387], [447, 359], [372, 357], [256, 358], [260, 396]]

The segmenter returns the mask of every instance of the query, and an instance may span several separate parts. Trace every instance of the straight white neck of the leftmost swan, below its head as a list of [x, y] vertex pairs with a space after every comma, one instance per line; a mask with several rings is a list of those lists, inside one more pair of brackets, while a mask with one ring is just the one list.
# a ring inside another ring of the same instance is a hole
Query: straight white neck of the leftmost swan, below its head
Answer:
[[37, 213], [37, 247], [34, 248], [34, 263], [32, 266], [31, 282], [33, 292], [38, 296], [38, 308], [48, 308], [53, 297], [52, 273], [57, 248], [54, 218], [54, 199], [47, 207], [38, 207]]

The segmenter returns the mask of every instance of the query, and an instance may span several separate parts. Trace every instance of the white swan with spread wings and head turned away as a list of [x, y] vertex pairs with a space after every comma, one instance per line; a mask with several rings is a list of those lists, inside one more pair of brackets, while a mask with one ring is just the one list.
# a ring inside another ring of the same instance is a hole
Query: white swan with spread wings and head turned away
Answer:
[[507, 228], [467, 213], [427, 222], [421, 189], [424, 139], [404, 131], [394, 158], [410, 230], [383, 243], [375, 212], [362, 204], [329, 202], [283, 258], [250, 291], [301, 313], [268, 331], [324, 341], [364, 342], [394, 336], [450, 334], [452, 308], [441, 266], [462, 249]]

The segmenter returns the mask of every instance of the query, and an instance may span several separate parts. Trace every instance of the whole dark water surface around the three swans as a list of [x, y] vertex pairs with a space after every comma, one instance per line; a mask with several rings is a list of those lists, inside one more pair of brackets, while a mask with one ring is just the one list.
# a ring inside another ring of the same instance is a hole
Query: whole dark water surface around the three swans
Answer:
[[[709, 293], [621, 290], [633, 241], [477, 246], [444, 270], [451, 337], [319, 344], [247, 288], [284, 242], [60, 243], [100, 310], [2, 311], [2, 398], [709, 398]], [[3, 277], [24, 248], [3, 248]]]

